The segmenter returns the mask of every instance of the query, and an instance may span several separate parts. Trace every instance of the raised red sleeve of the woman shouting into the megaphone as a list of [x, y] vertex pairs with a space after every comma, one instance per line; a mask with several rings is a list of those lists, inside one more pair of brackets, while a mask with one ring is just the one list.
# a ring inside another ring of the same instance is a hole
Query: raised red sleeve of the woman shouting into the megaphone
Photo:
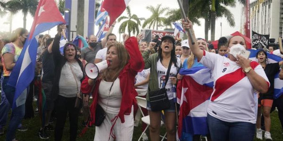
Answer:
[[130, 68], [136, 72], [143, 70], [144, 62], [136, 37], [130, 37], [129, 39], [127, 39], [127, 41], [125, 42], [125, 48], [130, 55]]

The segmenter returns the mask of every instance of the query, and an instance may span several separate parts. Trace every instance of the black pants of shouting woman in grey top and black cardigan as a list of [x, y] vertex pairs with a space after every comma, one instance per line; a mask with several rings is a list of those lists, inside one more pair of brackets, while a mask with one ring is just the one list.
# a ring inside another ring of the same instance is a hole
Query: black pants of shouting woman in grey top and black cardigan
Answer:
[[69, 113], [70, 119], [70, 140], [76, 140], [78, 130], [78, 116], [79, 109], [75, 108], [76, 97], [66, 98], [64, 96], [58, 96], [56, 105], [56, 125], [55, 125], [55, 140], [61, 140], [63, 135], [63, 129]]

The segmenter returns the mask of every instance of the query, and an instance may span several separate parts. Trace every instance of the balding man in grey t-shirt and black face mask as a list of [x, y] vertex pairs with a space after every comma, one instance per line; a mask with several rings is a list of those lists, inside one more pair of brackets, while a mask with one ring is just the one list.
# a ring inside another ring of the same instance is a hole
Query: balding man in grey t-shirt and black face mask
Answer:
[[89, 36], [89, 47], [85, 48], [81, 52], [81, 58], [87, 62], [94, 63], [94, 59], [98, 50], [102, 49], [97, 45], [97, 37], [94, 35]]

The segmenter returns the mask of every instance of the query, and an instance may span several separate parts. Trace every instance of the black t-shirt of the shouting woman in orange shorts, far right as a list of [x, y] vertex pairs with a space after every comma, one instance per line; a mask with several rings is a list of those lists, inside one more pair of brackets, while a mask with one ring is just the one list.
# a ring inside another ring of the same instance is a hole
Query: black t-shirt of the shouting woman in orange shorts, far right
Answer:
[[265, 94], [260, 94], [262, 99], [273, 99], [274, 93], [274, 76], [279, 71], [279, 63], [270, 63], [265, 66], [264, 72], [270, 83], [270, 87]]

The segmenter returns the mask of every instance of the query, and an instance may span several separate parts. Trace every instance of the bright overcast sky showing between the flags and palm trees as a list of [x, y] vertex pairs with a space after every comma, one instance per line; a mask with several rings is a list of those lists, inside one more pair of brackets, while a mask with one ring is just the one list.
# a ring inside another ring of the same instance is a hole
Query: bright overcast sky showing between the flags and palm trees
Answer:
[[[144, 18], [148, 18], [151, 16], [151, 12], [149, 10], [146, 9], [146, 6], [156, 6], [158, 4], [162, 4], [162, 7], [169, 7], [169, 8], [179, 8], [178, 2], [176, 0], [132, 0], [129, 3], [130, 9], [132, 14], [136, 14], [138, 17], [144, 17]], [[222, 36], [226, 36], [229, 34], [232, 34], [235, 31], [239, 31], [240, 30], [240, 19], [241, 19], [241, 6], [238, 2], [236, 4], [235, 7], [227, 7], [231, 13], [234, 15], [234, 19], [235, 19], [235, 27], [230, 27], [226, 21], [226, 19], [224, 17], [222, 18], [218, 18], [216, 19], [216, 23], [215, 23], [215, 39], [219, 39], [220, 38], [220, 22], [222, 22]], [[165, 13], [164, 13], [165, 14]], [[9, 14], [7, 14], [4, 17], [0, 17], [0, 30], [1, 31], [9, 31], [9, 24], [5, 24], [5, 22], [8, 21], [8, 16]], [[123, 12], [122, 16], [127, 16], [126, 11]], [[165, 15], [162, 15], [165, 16]], [[200, 19], [201, 21], [201, 25], [197, 26], [194, 25], [194, 30], [195, 30], [195, 34], [196, 37], [200, 37], [200, 38], [204, 38], [205, 34], [204, 34], [204, 19]], [[31, 17], [30, 14], [28, 14], [27, 16], [27, 29], [29, 30], [31, 28], [31, 25], [33, 23], [33, 18]], [[121, 21], [122, 23], [122, 21]], [[114, 27], [113, 33], [118, 35], [118, 29], [121, 23], [117, 23]], [[141, 24], [143, 24], [143, 21], [141, 21]], [[23, 27], [23, 14], [22, 12], [18, 12], [16, 15], [13, 16], [13, 21], [12, 21], [12, 30], [15, 30], [18, 27]], [[164, 27], [165, 28], [165, 27]], [[141, 27], [140, 27], [141, 29]], [[159, 27], [159, 30], [162, 30], [163, 28]], [[95, 26], [95, 34], [98, 31], [98, 26]], [[127, 30], [126, 30], [127, 31]], [[47, 34], [48, 31], [44, 32], [44, 34]], [[52, 28], [49, 32], [49, 34], [51, 36], [55, 36], [56, 34], [56, 28]], [[209, 31], [209, 36], [208, 38], [210, 39], [210, 31]], [[119, 37], [117, 38], [117, 40], [119, 41]]]

